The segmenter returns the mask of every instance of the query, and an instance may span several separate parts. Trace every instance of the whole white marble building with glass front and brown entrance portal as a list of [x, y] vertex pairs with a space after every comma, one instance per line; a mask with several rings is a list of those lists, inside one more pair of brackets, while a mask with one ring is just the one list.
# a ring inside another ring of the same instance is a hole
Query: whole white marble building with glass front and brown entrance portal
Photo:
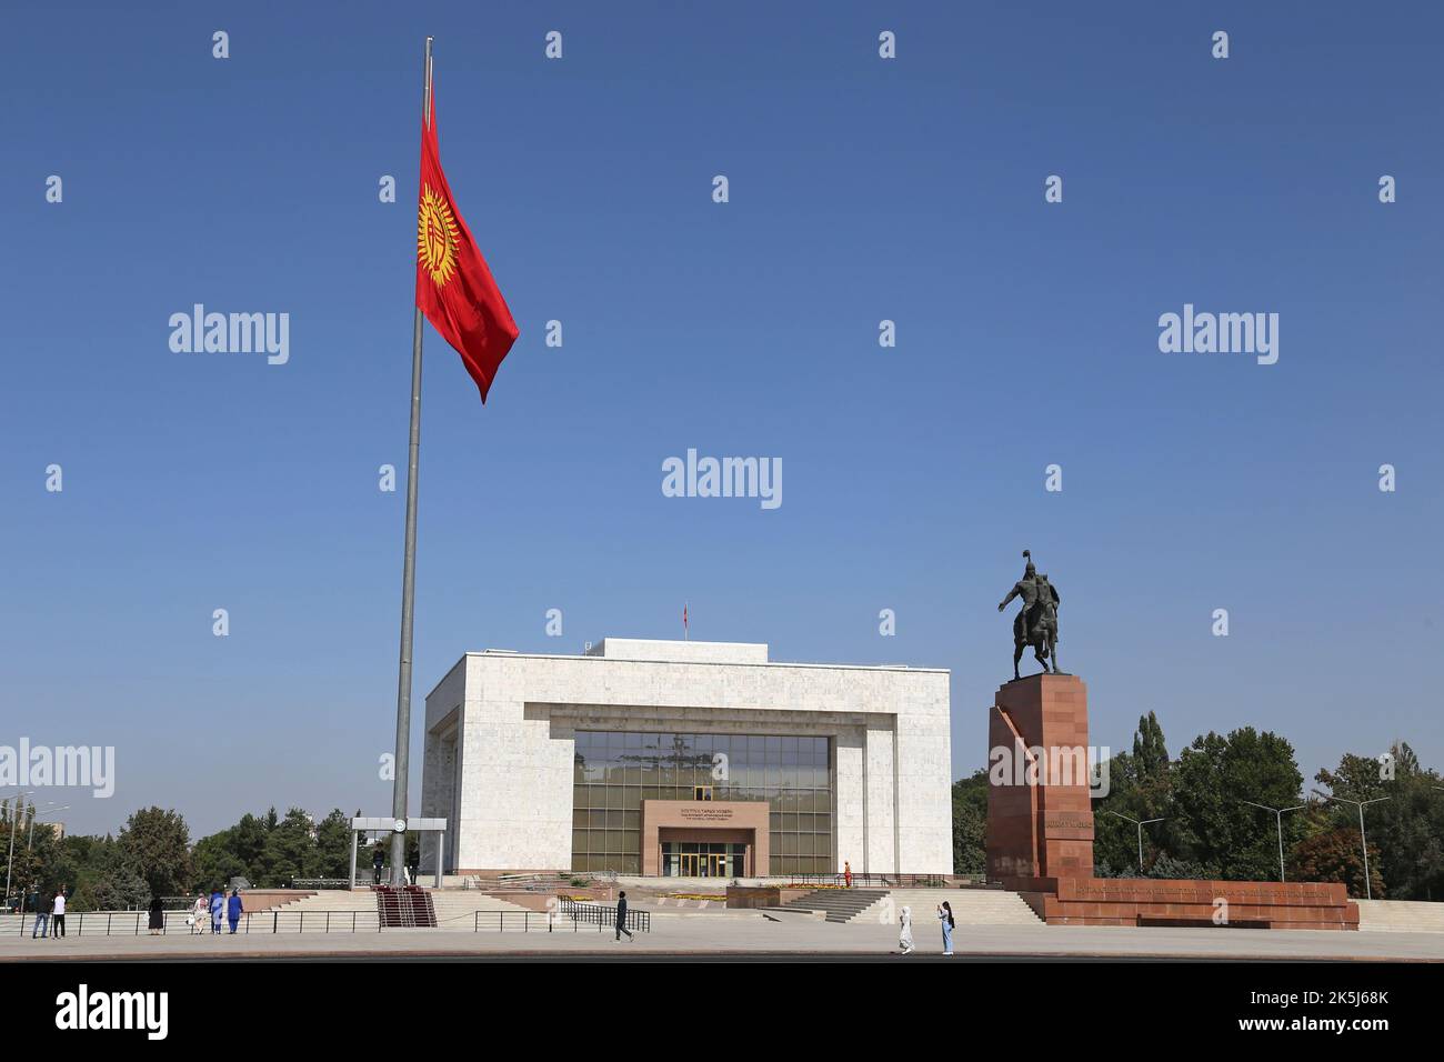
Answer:
[[[952, 873], [947, 686], [726, 642], [466, 653], [426, 698], [420, 813], [452, 824], [449, 874]], [[705, 844], [770, 811], [745, 855]]]

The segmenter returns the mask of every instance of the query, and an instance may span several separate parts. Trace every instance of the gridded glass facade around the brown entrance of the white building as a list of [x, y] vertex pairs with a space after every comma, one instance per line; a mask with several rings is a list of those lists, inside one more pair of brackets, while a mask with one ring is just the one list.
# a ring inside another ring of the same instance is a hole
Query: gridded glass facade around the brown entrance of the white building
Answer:
[[[826, 737], [579, 730], [573, 779], [572, 870], [640, 874], [641, 802], [697, 799], [767, 800], [771, 857], [757, 873], [836, 870]], [[739, 863], [728, 860], [729, 877]]]

